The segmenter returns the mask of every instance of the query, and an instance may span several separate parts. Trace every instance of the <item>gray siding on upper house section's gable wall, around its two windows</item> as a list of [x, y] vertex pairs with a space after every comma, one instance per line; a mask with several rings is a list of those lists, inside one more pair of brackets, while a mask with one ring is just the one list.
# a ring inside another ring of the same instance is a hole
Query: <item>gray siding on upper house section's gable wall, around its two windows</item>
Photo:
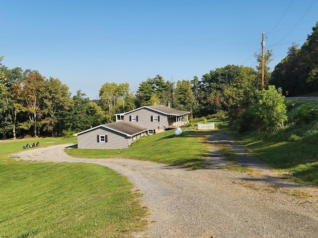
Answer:
[[[160, 125], [160, 128], [163, 128], [163, 126], [168, 126], [167, 115], [159, 113], [157, 111], [147, 109], [147, 108], [142, 108], [132, 113], [127, 113], [124, 116], [124, 120], [129, 121], [130, 116], [138, 116], [138, 121], [131, 121], [131, 122], [137, 123], [148, 129], [158, 129], [159, 125]], [[152, 116], [159, 116], [159, 121], [151, 121]]]

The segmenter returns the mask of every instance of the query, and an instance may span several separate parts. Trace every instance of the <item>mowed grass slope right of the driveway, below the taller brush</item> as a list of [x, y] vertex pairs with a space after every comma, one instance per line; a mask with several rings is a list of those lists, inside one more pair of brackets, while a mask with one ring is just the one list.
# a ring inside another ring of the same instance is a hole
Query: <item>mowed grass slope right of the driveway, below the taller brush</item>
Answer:
[[318, 186], [318, 134], [296, 141], [281, 140], [277, 135], [265, 140], [253, 134], [231, 133], [231, 136], [239, 144], [251, 149], [250, 156], [265, 165], [286, 171], [297, 182]]

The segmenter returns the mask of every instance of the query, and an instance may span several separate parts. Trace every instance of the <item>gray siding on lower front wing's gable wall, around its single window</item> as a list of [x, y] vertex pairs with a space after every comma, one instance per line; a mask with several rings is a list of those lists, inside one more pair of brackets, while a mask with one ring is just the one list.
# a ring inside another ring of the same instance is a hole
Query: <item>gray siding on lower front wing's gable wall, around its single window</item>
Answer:
[[[107, 142], [97, 142], [97, 135], [107, 135]], [[103, 127], [78, 135], [79, 149], [124, 149], [128, 143], [127, 136]]]

